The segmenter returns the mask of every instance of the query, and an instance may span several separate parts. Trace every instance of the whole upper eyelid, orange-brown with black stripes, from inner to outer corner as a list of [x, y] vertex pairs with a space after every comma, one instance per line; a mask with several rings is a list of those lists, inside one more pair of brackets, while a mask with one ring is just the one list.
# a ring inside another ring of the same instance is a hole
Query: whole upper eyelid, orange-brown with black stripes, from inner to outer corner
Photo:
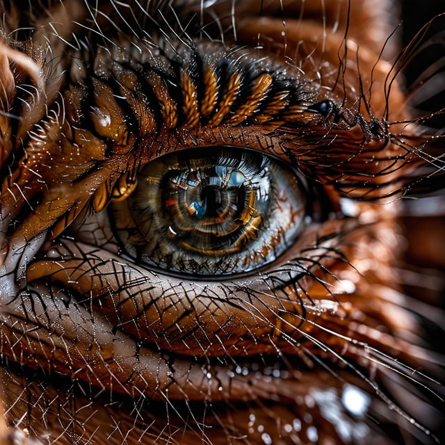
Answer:
[[[34, 176], [30, 181], [29, 175], [22, 176], [20, 169], [26, 172], [35, 171], [37, 175], [44, 177], [47, 187], [57, 188], [60, 170], [55, 172], [48, 167], [54, 163], [64, 166], [64, 181], [67, 184], [70, 181], [79, 181], [79, 177], [88, 177], [90, 172], [101, 165], [102, 172], [108, 171], [109, 175], [106, 179], [109, 185], [102, 187], [102, 191], [112, 190], [115, 181], [123, 174], [130, 173], [129, 177], [134, 177], [144, 163], [166, 151], [227, 144], [229, 141], [232, 145], [260, 149], [290, 161], [315, 181], [333, 184], [343, 195], [375, 200], [399, 193], [401, 186], [398, 184], [398, 170], [408, 160], [421, 161], [415, 152], [406, 149], [402, 143], [398, 147], [401, 152], [399, 159], [396, 156], [387, 156], [387, 132], [373, 135], [369, 131], [371, 124], [357, 112], [340, 110], [338, 106], [334, 106], [335, 113], [325, 117], [314, 111], [316, 108], [311, 111], [310, 107], [319, 99], [318, 89], [316, 83], [305, 81], [300, 73], [286, 77], [289, 70], [282, 69], [280, 72], [274, 66], [275, 74], [271, 76], [268, 74], [268, 63], [262, 59], [261, 63], [255, 63], [252, 56], [241, 57], [236, 54], [235, 59], [234, 54], [229, 56], [216, 52], [209, 60], [208, 57], [200, 56], [199, 49], [194, 54], [201, 58], [200, 75], [204, 79], [209, 70], [213, 72], [207, 75], [209, 80], [204, 83], [206, 90], [200, 91], [202, 84], [197, 84], [197, 79], [193, 78], [193, 70], [186, 77], [183, 76], [182, 80], [195, 88], [197, 98], [205, 97], [207, 86], [213, 90], [218, 88], [218, 97], [221, 97], [213, 111], [207, 117], [201, 115], [197, 127], [189, 129], [178, 127], [184, 123], [188, 127], [190, 122], [196, 121], [195, 117], [191, 121], [187, 113], [184, 115], [182, 108], [184, 96], [180, 74], [181, 67], [186, 66], [187, 51], [183, 54], [185, 61], [179, 60], [178, 64], [177, 60], [170, 60], [168, 72], [161, 69], [165, 60], [162, 63], [154, 60], [151, 65], [138, 63], [137, 60], [118, 63], [112, 59], [107, 60], [104, 51], [100, 52], [100, 63], [92, 60], [95, 62], [92, 65], [99, 66], [100, 70], [91, 72], [90, 67], [86, 73], [91, 79], [87, 79], [86, 85], [82, 86], [77, 82], [65, 92], [67, 107], [73, 108], [70, 104], [74, 98], [83, 113], [68, 113], [64, 122], [58, 122], [57, 118], [42, 122], [46, 128], [45, 133], [30, 140], [29, 147], [26, 148], [27, 158], [17, 170], [16, 185], [24, 190], [24, 196], [11, 196], [6, 191], [2, 193], [5, 208], [12, 209], [11, 218], [26, 200], [31, 199], [31, 182], [40, 180]], [[118, 58], [113, 55], [111, 57]], [[218, 79], [216, 86], [214, 79]], [[253, 96], [245, 97], [246, 92], [256, 85], [255, 81], [261, 85], [257, 84], [258, 91], [263, 95], [261, 99], [255, 97], [254, 92], [251, 93]], [[122, 92], [131, 85], [136, 87], [131, 91], [130, 102], [127, 102], [127, 97], [122, 96]], [[224, 91], [230, 93], [228, 99], [223, 94]], [[213, 92], [211, 97], [215, 96], [216, 92]], [[187, 100], [187, 96], [185, 97]], [[196, 100], [199, 102], [199, 99]], [[252, 105], [257, 101], [258, 106], [254, 107], [253, 113], [246, 115], [249, 102]], [[200, 105], [198, 111], [205, 105], [207, 113], [209, 104], [201, 102]], [[57, 102], [55, 106], [65, 106], [65, 103]], [[124, 106], [128, 107], [129, 113], [122, 108]], [[90, 120], [91, 109], [95, 110], [94, 122]], [[185, 109], [189, 109], [187, 104]], [[138, 111], [143, 111], [142, 115], [134, 114]], [[261, 120], [260, 126], [254, 124], [256, 120]], [[335, 122], [336, 120], [339, 122]], [[150, 133], [142, 135], [129, 131], [131, 128], [144, 127], [145, 132], [152, 128], [153, 122], [156, 122], [156, 129]], [[213, 122], [218, 122], [218, 127], [213, 127]], [[103, 131], [99, 129], [100, 124], [104, 124]], [[59, 149], [51, 149], [51, 145], [56, 145]], [[376, 159], [380, 165], [375, 162]], [[382, 175], [382, 172], [385, 174]], [[90, 184], [94, 182], [92, 180]], [[95, 187], [98, 186], [99, 184]], [[96, 188], [90, 188], [88, 193], [84, 193], [81, 201], [74, 200], [78, 207], [76, 213], [86, 204], [85, 200], [95, 193]], [[40, 217], [40, 212], [45, 214], [48, 205], [51, 207], [51, 195], [54, 195], [51, 191], [46, 193], [46, 203], [42, 202], [34, 209], [34, 216], [42, 221], [47, 218]], [[101, 199], [97, 197], [98, 208], [106, 204], [103, 196], [102, 194]], [[67, 222], [70, 220], [71, 218], [65, 218]], [[47, 227], [51, 224], [52, 221], [47, 220]], [[59, 229], [63, 229], [63, 225], [64, 223], [60, 223]], [[39, 225], [38, 228], [33, 228], [27, 224], [26, 231], [32, 238], [47, 227]]]

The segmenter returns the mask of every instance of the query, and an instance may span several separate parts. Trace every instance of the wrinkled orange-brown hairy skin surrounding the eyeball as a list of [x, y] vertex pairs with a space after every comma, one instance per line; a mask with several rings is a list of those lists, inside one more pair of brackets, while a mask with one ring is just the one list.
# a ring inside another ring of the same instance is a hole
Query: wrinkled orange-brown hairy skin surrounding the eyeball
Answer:
[[[440, 140], [410, 122], [391, 8], [209, 3], [1, 4], [1, 443], [434, 443], [441, 357], [398, 284], [396, 218]], [[209, 145], [298, 168], [320, 216], [246, 277], [122, 256], [111, 200]]]

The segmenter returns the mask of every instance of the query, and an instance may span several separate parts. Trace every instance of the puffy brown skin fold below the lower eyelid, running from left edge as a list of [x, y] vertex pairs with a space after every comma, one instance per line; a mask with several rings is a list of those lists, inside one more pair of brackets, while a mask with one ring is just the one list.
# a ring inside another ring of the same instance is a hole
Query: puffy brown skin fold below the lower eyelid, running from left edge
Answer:
[[[26, 296], [17, 299], [8, 307], [8, 323], [3, 326], [8, 332], [13, 325], [16, 334], [29, 329], [29, 325], [39, 327], [40, 333], [51, 329], [51, 355], [42, 348], [40, 337], [26, 332], [28, 341], [23, 348], [26, 352], [32, 350], [28, 366], [47, 366], [51, 359], [52, 371], [72, 375], [102, 389], [162, 401], [165, 395], [171, 400], [186, 395], [187, 401], [207, 401], [211, 395], [212, 402], [256, 401], [261, 397], [293, 398], [296, 394], [307, 394], [307, 385], [301, 385], [301, 381], [309, 378], [314, 384], [319, 378], [318, 372], [313, 371], [305, 374], [297, 371], [295, 375], [280, 371], [270, 378], [266, 369], [252, 373], [248, 368], [241, 371], [240, 366], [235, 369], [233, 365], [209, 364], [196, 357], [172, 357], [168, 361], [159, 350], [141, 346], [123, 332], [113, 332], [102, 315], [96, 313], [92, 318], [88, 309], [56, 286], [49, 289], [44, 284], [35, 284], [30, 290], [38, 298], [32, 303]], [[47, 307], [53, 310], [47, 312]], [[29, 314], [26, 321], [23, 312]], [[55, 335], [58, 330], [63, 332], [61, 339]], [[234, 371], [227, 372], [232, 368]]]

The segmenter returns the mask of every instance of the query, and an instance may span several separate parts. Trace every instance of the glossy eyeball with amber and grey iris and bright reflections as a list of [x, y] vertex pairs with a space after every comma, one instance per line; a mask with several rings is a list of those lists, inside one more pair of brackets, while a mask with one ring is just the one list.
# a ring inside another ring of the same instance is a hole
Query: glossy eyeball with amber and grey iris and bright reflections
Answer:
[[133, 260], [174, 275], [232, 275], [265, 266], [296, 241], [306, 193], [271, 156], [200, 147], [147, 163], [131, 195], [109, 208]]

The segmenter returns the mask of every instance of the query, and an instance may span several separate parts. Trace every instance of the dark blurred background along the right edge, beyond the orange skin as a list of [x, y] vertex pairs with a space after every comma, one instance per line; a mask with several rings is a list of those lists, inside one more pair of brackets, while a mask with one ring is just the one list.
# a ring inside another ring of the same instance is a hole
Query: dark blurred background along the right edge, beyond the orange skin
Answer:
[[[399, 0], [403, 46], [411, 42], [422, 26], [433, 17], [445, 13], [445, 0]], [[445, 107], [445, 17], [436, 17], [430, 24], [425, 37], [421, 40], [423, 47], [403, 72], [408, 90], [418, 86], [418, 79], [426, 70], [435, 75], [429, 81], [428, 88], [414, 95], [416, 115], [426, 115]], [[444, 134], [445, 115], [442, 113], [428, 121], [428, 126]], [[445, 153], [445, 141], [439, 147], [436, 156]], [[445, 176], [441, 175], [442, 189], [445, 188]], [[421, 204], [421, 203], [424, 204]], [[405, 291], [419, 300], [430, 303], [434, 307], [445, 310], [445, 193], [433, 193], [421, 202], [405, 202], [405, 216], [400, 220], [405, 230], [408, 245], [403, 268], [406, 273]], [[410, 275], [412, 273], [412, 275]], [[423, 325], [429, 335], [430, 347], [442, 355], [442, 366], [445, 357], [445, 319], [443, 313], [437, 312], [435, 321], [428, 318]], [[437, 380], [445, 382], [445, 372]], [[442, 396], [444, 391], [442, 389]], [[435, 429], [441, 443], [445, 444], [445, 405], [437, 403], [437, 410], [442, 412], [443, 421]], [[421, 442], [419, 442], [420, 444]]]

